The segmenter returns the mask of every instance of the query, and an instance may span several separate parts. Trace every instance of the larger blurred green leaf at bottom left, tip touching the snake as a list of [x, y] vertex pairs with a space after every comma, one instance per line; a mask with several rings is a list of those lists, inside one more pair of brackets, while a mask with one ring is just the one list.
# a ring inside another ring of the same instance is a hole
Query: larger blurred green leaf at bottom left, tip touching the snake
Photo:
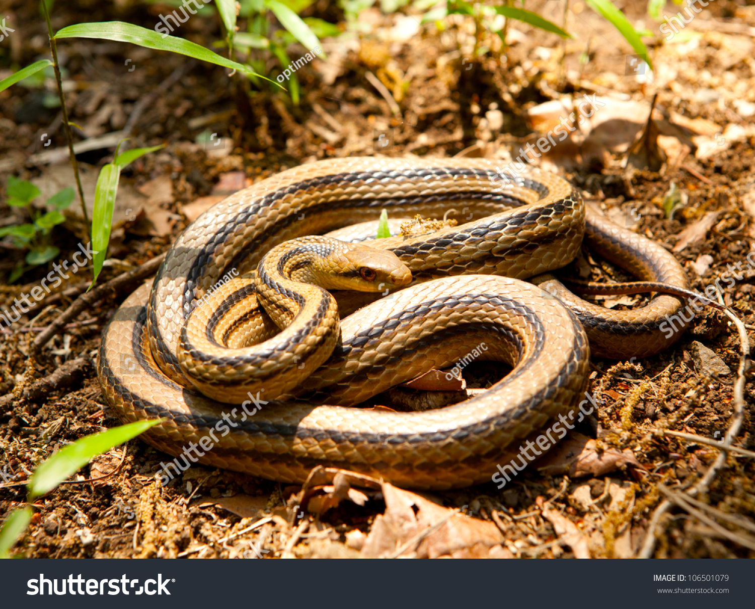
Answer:
[[92, 457], [128, 442], [132, 437], [136, 437], [160, 421], [161, 419], [153, 419], [129, 423], [99, 434], [82, 437], [73, 444], [69, 444], [36, 468], [27, 485], [29, 497], [34, 498], [49, 493], [70, 475], [84, 467]]

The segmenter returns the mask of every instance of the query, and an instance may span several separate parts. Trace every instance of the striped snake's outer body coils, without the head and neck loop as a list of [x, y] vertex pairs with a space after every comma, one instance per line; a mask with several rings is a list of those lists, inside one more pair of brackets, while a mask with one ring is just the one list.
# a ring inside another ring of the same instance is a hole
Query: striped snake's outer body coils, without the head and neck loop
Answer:
[[[379, 242], [414, 283], [342, 320], [341, 342], [299, 398], [264, 400], [260, 392], [233, 406], [190, 388], [177, 341], [224, 274], [254, 269], [279, 243], [372, 220], [382, 209], [438, 217], [451, 207], [464, 224]], [[489, 481], [520, 442], [581, 400], [590, 354], [583, 326], [598, 345], [593, 351], [612, 357], [655, 353], [680, 335], [661, 331], [683, 306], [676, 298], [608, 311], [560, 284], [546, 292], [522, 281], [539, 275], [554, 283], [541, 274], [572, 261], [585, 233], [640, 279], [686, 287], [680, 264], [661, 246], [587, 211], [568, 182], [547, 172], [502, 180], [485, 159], [301, 165], [228, 197], [181, 234], [155, 280], [126, 299], [104, 332], [103, 394], [124, 422], [163, 419], [143, 434], [153, 447], [178, 456], [199, 444], [192, 460], [263, 478], [300, 483], [326, 465], [415, 488]], [[471, 400], [424, 413], [347, 407], [451, 366], [482, 343], [479, 359], [513, 370]]]

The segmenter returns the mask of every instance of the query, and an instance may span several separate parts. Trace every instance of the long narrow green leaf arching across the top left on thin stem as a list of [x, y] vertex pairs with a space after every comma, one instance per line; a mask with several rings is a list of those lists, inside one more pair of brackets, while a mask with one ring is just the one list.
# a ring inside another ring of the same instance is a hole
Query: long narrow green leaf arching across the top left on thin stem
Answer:
[[[163, 25], [162, 22], [160, 25]], [[164, 26], [164, 25], [163, 25]], [[165, 26], [164, 26], [165, 27]], [[167, 29], [167, 28], [166, 28]], [[116, 42], [131, 42], [145, 48], [154, 48], [158, 51], [171, 51], [194, 57], [209, 63], [215, 63], [218, 66], [224, 66], [231, 70], [239, 70], [248, 73], [247, 66], [236, 61], [226, 59], [217, 53], [196, 45], [193, 42], [177, 38], [177, 36], [165, 36], [153, 29], [134, 26], [131, 23], [122, 21], [100, 21], [96, 23], [77, 23], [73, 26], [64, 27], [57, 34], [55, 39], [62, 38], [94, 38], [100, 40], [114, 40]]]

